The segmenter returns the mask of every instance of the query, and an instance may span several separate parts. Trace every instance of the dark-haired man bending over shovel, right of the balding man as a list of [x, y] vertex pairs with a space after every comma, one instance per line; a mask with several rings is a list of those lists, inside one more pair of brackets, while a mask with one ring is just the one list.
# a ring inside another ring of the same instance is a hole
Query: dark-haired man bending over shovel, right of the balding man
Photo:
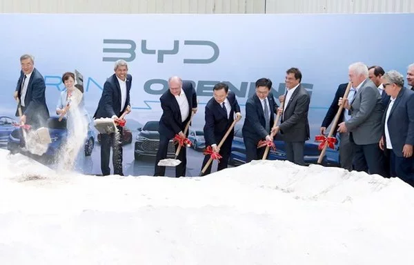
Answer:
[[[231, 144], [234, 137], [234, 128], [230, 131], [230, 134], [224, 141], [221, 148], [217, 145], [223, 139], [230, 125], [233, 124], [234, 115], [236, 119], [242, 118], [240, 113], [240, 107], [237, 103], [236, 95], [234, 92], [228, 91], [228, 85], [224, 83], [215, 84], [213, 88], [213, 98], [210, 99], [206, 105], [204, 125], [204, 139], [206, 140], [206, 146], [211, 146], [213, 152], [219, 153], [221, 159], [217, 166], [217, 171], [227, 168], [228, 159], [230, 158]], [[210, 155], [204, 157], [201, 169], [206, 166]], [[211, 164], [208, 166], [204, 175], [210, 174]]]

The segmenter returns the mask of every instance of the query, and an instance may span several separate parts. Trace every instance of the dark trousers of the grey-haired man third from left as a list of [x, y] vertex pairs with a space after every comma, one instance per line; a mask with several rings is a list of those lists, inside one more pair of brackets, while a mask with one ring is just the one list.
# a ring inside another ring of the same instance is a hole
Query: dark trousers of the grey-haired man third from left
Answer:
[[122, 172], [122, 134], [121, 126], [117, 126], [119, 130], [119, 139], [116, 139], [115, 133], [101, 134], [101, 170], [102, 175], [110, 175], [109, 157], [110, 148], [112, 147], [112, 165], [114, 166], [114, 175], [123, 176]]

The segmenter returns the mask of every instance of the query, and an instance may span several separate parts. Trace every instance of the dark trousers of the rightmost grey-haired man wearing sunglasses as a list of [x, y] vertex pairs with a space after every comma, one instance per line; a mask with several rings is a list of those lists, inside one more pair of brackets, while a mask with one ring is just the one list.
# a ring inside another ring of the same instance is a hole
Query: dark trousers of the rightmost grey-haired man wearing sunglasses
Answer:
[[391, 177], [400, 177], [414, 187], [413, 160], [413, 156], [397, 157], [393, 150], [390, 150]]

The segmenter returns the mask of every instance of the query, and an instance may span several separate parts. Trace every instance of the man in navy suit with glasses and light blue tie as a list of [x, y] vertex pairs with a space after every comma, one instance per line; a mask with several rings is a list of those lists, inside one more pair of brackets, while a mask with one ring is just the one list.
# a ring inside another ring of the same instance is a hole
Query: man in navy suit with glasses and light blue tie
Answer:
[[242, 128], [246, 163], [262, 159], [266, 147], [257, 148], [260, 140], [273, 141], [270, 133], [274, 130], [274, 113], [277, 112], [278, 106], [270, 88], [272, 88], [270, 79], [258, 79], [255, 95], [246, 101], [246, 118]]

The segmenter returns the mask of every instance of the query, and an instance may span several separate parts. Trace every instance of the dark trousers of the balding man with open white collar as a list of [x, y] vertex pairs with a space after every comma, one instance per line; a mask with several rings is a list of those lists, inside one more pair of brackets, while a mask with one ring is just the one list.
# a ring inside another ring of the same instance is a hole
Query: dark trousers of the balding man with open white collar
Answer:
[[[168, 153], [168, 142], [170, 138], [164, 135], [159, 135], [159, 148], [157, 151], [157, 158], [155, 159], [154, 176], [164, 176], [166, 174], [165, 166], [158, 166], [158, 162], [162, 159], [166, 159]], [[175, 145], [175, 151], [177, 151], [178, 144]], [[179, 165], [175, 167], [175, 177], [183, 177], [186, 175], [187, 166], [187, 148], [181, 146], [181, 150], [177, 156], [177, 159], [181, 161]]]

